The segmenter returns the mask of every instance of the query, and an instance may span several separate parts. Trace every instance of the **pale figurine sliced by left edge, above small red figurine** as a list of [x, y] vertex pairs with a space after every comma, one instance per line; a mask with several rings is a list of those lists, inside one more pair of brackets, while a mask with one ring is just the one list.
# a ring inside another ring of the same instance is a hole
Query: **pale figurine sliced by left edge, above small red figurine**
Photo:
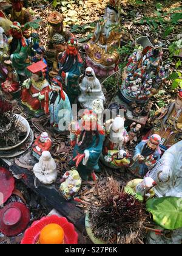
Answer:
[[10, 59], [8, 40], [4, 29], [0, 27], [0, 81], [5, 80], [7, 77], [8, 71], [3, 62], [8, 59]]

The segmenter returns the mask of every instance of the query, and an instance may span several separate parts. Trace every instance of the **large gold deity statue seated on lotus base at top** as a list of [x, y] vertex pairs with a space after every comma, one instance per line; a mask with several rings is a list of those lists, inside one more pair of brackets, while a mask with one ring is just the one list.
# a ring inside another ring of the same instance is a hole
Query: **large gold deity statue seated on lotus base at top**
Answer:
[[96, 25], [92, 40], [84, 46], [87, 66], [93, 68], [96, 76], [106, 77], [117, 70], [120, 41], [120, 0], [110, 0], [104, 21]]

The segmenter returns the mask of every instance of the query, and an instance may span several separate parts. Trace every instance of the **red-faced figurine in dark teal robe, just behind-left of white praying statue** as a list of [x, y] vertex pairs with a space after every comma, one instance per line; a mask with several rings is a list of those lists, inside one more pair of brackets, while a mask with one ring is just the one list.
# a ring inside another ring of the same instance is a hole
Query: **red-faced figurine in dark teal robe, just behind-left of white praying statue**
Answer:
[[59, 74], [64, 80], [70, 103], [73, 104], [80, 94], [79, 76], [83, 66], [83, 59], [81, 59], [81, 55], [78, 52], [78, 41], [75, 38], [71, 38], [68, 41], [66, 51], [59, 54], [58, 60]]

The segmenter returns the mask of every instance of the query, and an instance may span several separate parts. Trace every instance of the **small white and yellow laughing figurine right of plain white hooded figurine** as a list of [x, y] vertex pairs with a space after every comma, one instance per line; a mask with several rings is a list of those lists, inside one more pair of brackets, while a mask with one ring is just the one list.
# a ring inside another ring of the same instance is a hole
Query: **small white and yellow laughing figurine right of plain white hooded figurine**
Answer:
[[59, 190], [64, 194], [67, 200], [72, 199], [81, 187], [81, 177], [76, 170], [67, 171], [64, 176], [62, 176], [61, 186]]

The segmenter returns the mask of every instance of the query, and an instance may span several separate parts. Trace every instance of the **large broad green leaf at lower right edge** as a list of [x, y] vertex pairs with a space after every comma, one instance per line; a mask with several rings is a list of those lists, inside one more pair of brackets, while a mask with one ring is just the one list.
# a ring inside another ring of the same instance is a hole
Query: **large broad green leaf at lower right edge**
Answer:
[[152, 213], [153, 221], [168, 230], [182, 227], [182, 199], [180, 197], [160, 197], [149, 199], [147, 211]]

